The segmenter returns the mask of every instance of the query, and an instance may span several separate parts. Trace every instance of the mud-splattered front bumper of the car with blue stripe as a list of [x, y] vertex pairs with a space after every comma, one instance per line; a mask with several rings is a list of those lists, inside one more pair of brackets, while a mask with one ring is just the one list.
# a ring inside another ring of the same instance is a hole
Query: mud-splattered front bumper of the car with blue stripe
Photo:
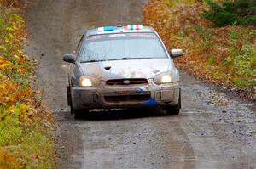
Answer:
[[73, 109], [110, 109], [178, 104], [177, 82], [165, 85], [71, 87]]

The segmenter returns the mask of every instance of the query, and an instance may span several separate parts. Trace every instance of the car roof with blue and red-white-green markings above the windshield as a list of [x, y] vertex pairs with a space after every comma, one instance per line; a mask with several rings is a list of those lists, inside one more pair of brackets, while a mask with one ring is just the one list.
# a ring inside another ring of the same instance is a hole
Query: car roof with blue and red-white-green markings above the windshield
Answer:
[[143, 26], [143, 25], [127, 25], [127, 26], [105, 26], [98, 27], [87, 31], [86, 37], [93, 35], [102, 35], [102, 34], [118, 34], [118, 33], [152, 33], [155, 32], [152, 27]]

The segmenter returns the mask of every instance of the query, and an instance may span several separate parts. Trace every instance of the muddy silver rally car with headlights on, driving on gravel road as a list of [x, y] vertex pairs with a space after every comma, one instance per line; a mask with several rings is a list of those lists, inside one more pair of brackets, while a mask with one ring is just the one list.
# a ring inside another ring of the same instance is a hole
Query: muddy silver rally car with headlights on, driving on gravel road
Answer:
[[67, 102], [79, 119], [88, 110], [158, 106], [168, 115], [181, 109], [179, 71], [182, 49], [168, 54], [153, 28], [99, 27], [84, 34], [69, 65]]

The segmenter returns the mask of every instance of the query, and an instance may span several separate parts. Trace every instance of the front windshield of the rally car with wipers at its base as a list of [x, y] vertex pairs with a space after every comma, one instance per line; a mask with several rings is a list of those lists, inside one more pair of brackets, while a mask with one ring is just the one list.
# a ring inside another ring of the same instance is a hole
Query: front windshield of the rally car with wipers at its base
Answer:
[[166, 51], [154, 33], [119, 33], [87, 37], [79, 55], [81, 62], [167, 58]]

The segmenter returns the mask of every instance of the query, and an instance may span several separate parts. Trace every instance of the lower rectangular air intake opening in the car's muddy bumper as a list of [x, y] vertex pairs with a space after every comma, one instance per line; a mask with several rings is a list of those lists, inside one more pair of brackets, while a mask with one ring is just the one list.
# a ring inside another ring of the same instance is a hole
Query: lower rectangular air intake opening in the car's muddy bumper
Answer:
[[128, 103], [128, 102], [145, 102], [150, 100], [150, 94], [143, 95], [119, 95], [119, 96], [104, 96], [108, 103]]

